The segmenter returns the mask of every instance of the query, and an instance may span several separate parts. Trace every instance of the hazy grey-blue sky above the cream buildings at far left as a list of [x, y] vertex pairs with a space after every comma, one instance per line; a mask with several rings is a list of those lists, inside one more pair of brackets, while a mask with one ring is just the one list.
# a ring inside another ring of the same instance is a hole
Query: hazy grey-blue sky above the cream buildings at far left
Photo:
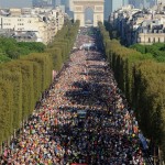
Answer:
[[32, 7], [32, 0], [0, 0], [1, 8]]

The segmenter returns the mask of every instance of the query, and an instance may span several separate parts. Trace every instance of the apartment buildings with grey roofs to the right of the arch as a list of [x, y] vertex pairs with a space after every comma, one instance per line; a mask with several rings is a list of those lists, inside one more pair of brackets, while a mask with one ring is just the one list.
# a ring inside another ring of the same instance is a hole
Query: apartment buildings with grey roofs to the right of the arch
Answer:
[[165, 43], [165, 10], [160, 6], [156, 10], [123, 7], [110, 15], [111, 25], [118, 30], [125, 45], [135, 43]]

